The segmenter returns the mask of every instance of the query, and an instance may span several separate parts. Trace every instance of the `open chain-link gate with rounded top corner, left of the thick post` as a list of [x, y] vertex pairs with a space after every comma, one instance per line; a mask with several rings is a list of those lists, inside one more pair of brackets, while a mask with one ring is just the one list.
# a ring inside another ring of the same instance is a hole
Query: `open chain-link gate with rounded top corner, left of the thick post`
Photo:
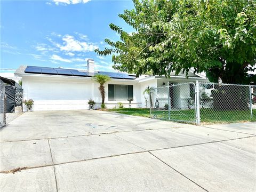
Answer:
[[171, 84], [150, 91], [150, 116], [178, 122], [198, 123], [197, 93], [193, 82]]

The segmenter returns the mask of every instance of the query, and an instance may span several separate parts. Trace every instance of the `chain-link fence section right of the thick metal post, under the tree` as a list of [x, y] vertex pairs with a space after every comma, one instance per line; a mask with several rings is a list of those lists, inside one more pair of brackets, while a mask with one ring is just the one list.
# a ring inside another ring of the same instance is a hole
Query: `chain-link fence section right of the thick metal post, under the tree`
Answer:
[[199, 83], [201, 122], [256, 120], [256, 86]]

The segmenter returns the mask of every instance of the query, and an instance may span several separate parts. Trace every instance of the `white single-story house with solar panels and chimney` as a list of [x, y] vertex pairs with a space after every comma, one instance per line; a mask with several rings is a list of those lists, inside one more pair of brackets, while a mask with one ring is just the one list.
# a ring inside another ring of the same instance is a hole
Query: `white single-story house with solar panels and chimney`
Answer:
[[[92, 81], [92, 76], [95, 73], [106, 74], [111, 77], [111, 81], [105, 85], [107, 108], [114, 108], [118, 102], [122, 102], [124, 107], [128, 107], [129, 101], [127, 99], [133, 99], [132, 107], [149, 107], [146, 106], [145, 102], [145, 96], [148, 96], [143, 94], [147, 86], [161, 87], [197, 80], [209, 82], [205, 76], [194, 74], [193, 71], [189, 71], [189, 78], [186, 78], [185, 74], [177, 76], [171, 74], [170, 78], [152, 75], [136, 78], [134, 75], [124, 73], [94, 71], [92, 59], [87, 60], [87, 70], [22, 65], [14, 74], [22, 77], [23, 99], [33, 99], [34, 106], [32, 109], [36, 111], [89, 109], [87, 103], [89, 99], [96, 102], [95, 108], [100, 107], [99, 84]], [[175, 90], [175, 93], [180, 94], [180, 98], [189, 97], [189, 91]], [[23, 109], [26, 111], [26, 106]]]

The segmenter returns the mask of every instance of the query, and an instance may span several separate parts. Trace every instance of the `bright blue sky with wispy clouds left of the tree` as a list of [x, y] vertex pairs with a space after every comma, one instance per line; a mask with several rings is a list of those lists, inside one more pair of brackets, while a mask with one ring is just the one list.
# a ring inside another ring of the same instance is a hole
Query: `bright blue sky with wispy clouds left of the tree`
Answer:
[[2, 1], [1, 69], [20, 65], [84, 68], [87, 58], [97, 70], [111, 71], [111, 57], [99, 57], [105, 38], [119, 36], [109, 23], [133, 29], [118, 17], [132, 1]]

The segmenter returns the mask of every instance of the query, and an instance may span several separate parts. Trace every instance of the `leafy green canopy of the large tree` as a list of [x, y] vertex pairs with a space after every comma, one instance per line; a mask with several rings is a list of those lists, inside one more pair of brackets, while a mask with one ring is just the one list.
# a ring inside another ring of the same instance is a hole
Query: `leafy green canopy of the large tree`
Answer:
[[[134, 28], [111, 23], [121, 41], [105, 39], [114, 68], [169, 76], [175, 71], [206, 72], [212, 82], [250, 83], [256, 63], [256, 0], [133, 0], [119, 14]], [[254, 79], [254, 82], [255, 79]]]

